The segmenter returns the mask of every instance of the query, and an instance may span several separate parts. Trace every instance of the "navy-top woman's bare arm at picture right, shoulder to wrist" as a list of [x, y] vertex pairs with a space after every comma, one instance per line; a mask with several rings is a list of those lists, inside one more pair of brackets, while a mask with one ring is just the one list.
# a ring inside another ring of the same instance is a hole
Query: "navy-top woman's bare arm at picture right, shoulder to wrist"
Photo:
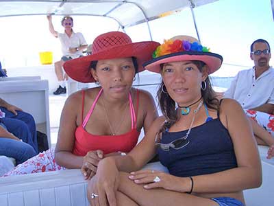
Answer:
[[221, 104], [220, 117], [232, 138], [238, 167], [193, 176], [193, 192], [238, 192], [259, 187], [262, 183], [262, 166], [247, 116], [238, 102], [225, 99]]

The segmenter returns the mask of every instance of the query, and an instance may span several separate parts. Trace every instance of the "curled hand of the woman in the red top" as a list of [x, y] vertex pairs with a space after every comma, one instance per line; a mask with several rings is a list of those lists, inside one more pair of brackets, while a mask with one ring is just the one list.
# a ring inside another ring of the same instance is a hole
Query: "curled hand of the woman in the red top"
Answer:
[[89, 151], [84, 156], [81, 172], [86, 180], [90, 180], [96, 174], [97, 166], [101, 159], [103, 159], [103, 151], [101, 150]]

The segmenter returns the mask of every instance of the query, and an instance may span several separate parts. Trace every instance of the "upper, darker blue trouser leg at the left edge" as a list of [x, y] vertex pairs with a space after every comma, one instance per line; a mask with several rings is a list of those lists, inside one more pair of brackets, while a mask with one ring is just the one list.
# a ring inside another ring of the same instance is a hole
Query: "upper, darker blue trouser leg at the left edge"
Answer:
[[17, 111], [18, 115], [14, 115], [14, 113], [11, 113], [7, 109], [3, 107], [0, 108], [1, 111], [5, 113], [3, 123], [10, 133], [31, 145], [36, 153], [38, 153], [37, 131], [34, 117], [23, 111]]

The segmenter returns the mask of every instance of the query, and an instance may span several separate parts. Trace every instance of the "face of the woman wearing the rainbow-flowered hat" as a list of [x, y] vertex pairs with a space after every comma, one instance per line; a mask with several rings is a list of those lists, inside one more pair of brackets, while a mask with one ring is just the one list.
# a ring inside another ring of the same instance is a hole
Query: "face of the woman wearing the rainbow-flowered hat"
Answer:
[[171, 98], [179, 105], [192, 104], [201, 97], [201, 82], [206, 69], [199, 71], [191, 61], [168, 62], [163, 65], [162, 79]]

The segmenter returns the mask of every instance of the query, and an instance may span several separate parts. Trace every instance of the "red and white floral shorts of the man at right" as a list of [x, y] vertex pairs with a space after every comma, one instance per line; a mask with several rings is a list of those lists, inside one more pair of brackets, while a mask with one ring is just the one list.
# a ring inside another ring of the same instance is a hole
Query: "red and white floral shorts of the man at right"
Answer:
[[255, 120], [260, 126], [268, 131], [274, 137], [274, 115], [263, 113], [260, 111], [253, 111], [249, 109], [244, 110], [248, 117]]

